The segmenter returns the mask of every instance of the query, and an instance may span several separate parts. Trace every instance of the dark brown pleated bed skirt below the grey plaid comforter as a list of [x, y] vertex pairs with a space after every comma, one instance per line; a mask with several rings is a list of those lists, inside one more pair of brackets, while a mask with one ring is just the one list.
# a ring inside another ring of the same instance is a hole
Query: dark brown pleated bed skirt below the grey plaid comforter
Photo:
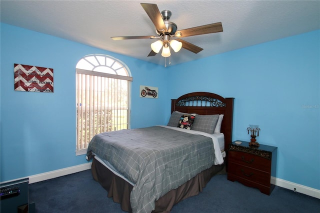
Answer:
[[[197, 195], [210, 178], [221, 171], [223, 167], [224, 164], [213, 165], [201, 171], [178, 188], [170, 190], [155, 201], [155, 209], [152, 212], [169, 212], [174, 204], [187, 197]], [[91, 172], [94, 180], [98, 181], [108, 191], [108, 197], [112, 197], [114, 202], [120, 203], [122, 210], [132, 212], [130, 192], [133, 186], [130, 183], [115, 175], [94, 157], [92, 159]]]

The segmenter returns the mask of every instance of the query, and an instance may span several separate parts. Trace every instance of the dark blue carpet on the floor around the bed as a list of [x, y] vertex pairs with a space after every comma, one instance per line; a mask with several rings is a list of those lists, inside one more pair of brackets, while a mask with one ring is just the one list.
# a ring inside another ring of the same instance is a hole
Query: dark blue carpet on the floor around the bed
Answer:
[[[125, 212], [107, 198], [107, 191], [93, 180], [90, 169], [29, 184], [29, 202], [35, 202], [36, 212]], [[171, 212], [319, 213], [320, 199], [278, 186], [265, 195], [217, 174], [201, 193], [177, 203]]]

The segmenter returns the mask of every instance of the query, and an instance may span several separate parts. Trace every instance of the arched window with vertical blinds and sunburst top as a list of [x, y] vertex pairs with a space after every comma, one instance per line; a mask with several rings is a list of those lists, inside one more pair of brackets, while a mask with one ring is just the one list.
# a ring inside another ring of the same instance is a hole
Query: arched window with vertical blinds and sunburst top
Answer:
[[85, 154], [101, 132], [129, 128], [131, 73], [120, 60], [103, 54], [76, 64], [76, 155]]

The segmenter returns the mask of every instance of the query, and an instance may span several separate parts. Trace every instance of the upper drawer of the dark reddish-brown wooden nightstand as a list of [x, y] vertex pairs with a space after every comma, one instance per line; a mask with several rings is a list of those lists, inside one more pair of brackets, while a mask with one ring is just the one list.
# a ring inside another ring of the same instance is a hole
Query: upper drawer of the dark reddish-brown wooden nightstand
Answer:
[[271, 168], [271, 161], [269, 159], [242, 151], [229, 151], [229, 161], [263, 171], [269, 171]]

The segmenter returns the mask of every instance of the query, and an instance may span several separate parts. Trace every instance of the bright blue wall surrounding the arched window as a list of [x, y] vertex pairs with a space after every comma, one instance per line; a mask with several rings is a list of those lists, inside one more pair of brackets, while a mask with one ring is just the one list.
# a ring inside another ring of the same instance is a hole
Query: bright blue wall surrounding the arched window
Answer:
[[[133, 77], [131, 127], [163, 123], [163, 66], [1, 23], [0, 180], [87, 162], [75, 156], [75, 65], [84, 55], [109, 54]], [[53, 68], [54, 92], [14, 91], [13, 64]], [[139, 86], [159, 87], [157, 99], [140, 98]]]

